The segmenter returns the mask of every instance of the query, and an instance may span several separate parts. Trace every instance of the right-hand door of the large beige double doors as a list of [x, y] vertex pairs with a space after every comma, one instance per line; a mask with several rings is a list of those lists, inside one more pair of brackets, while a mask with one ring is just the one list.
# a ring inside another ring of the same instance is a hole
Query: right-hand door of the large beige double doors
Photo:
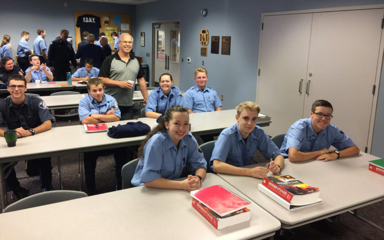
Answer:
[[[372, 87], [381, 71], [377, 62], [383, 16], [383, 9], [313, 13], [308, 60], [312, 76], [307, 74], [310, 86], [304, 117], [309, 117], [315, 100], [328, 100], [334, 108], [331, 123], [361, 151], [367, 146]], [[275, 116], [271, 116], [275, 127]]]

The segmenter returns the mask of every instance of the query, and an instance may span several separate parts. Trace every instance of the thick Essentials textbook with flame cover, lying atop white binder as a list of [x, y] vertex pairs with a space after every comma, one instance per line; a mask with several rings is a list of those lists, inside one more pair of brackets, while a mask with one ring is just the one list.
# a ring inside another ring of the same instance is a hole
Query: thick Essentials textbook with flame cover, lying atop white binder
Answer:
[[311, 187], [290, 175], [264, 177], [262, 184], [294, 205], [305, 205], [319, 199], [318, 187]]

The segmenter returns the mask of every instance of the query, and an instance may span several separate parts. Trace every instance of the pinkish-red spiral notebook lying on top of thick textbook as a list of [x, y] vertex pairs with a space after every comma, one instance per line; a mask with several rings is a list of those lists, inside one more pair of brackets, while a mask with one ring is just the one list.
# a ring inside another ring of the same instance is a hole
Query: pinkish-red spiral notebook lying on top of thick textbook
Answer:
[[220, 217], [236, 212], [251, 204], [248, 199], [238, 196], [221, 185], [214, 185], [192, 191], [190, 195], [209, 207]]

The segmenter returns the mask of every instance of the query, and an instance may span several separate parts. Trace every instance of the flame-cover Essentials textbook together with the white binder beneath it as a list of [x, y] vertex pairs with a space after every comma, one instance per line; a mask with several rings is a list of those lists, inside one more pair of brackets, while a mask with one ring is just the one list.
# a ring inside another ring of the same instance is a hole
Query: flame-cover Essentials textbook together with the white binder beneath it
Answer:
[[259, 191], [273, 199], [288, 210], [319, 204], [320, 191], [318, 187], [311, 187], [290, 175], [264, 177]]

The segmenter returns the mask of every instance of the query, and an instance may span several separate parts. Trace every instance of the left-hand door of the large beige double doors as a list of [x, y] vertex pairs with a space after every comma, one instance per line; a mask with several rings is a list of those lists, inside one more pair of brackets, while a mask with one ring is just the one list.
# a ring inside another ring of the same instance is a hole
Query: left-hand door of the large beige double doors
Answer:
[[264, 127], [270, 136], [303, 117], [311, 21], [312, 13], [263, 17], [256, 97], [261, 112], [272, 117]]

